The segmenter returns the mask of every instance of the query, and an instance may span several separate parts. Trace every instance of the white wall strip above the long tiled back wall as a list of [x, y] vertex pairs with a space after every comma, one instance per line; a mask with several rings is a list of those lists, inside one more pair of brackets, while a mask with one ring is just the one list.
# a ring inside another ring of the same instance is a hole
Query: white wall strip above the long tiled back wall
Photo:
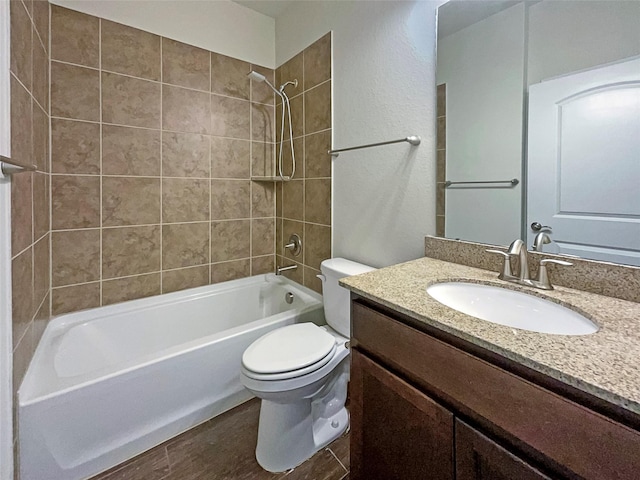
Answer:
[[275, 20], [230, 0], [50, 0], [147, 32], [275, 68]]

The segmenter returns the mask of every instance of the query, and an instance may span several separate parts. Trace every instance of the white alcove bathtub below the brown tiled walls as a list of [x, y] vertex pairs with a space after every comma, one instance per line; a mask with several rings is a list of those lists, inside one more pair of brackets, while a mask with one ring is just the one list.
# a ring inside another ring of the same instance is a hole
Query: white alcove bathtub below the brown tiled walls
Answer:
[[321, 296], [273, 274], [54, 318], [18, 392], [21, 480], [88, 478], [245, 402], [245, 348], [303, 321]]

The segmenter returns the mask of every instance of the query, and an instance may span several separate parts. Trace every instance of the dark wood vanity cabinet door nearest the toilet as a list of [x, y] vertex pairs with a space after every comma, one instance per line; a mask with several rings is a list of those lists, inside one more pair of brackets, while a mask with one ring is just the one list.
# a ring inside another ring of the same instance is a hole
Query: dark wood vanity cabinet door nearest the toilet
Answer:
[[351, 352], [351, 480], [452, 480], [453, 414]]

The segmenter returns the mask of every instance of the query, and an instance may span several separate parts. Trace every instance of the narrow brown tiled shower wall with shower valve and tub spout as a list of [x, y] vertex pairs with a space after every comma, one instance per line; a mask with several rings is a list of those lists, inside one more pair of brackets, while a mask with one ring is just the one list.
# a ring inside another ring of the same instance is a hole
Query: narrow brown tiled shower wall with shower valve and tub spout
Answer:
[[[277, 85], [291, 98], [296, 174], [276, 186], [276, 259], [280, 266], [298, 265], [285, 273], [298, 283], [321, 292], [316, 275], [320, 262], [331, 257], [331, 33], [305, 48], [276, 70]], [[280, 135], [281, 106], [276, 106], [276, 134]], [[291, 148], [285, 129], [284, 173], [291, 172]], [[284, 248], [289, 236], [302, 239], [302, 253], [294, 257]]]

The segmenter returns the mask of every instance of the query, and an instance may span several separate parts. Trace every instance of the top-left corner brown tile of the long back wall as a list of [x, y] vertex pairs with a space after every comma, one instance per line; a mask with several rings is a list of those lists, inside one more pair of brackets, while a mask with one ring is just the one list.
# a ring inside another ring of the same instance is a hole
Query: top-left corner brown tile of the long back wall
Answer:
[[51, 58], [97, 67], [100, 19], [51, 5]]

